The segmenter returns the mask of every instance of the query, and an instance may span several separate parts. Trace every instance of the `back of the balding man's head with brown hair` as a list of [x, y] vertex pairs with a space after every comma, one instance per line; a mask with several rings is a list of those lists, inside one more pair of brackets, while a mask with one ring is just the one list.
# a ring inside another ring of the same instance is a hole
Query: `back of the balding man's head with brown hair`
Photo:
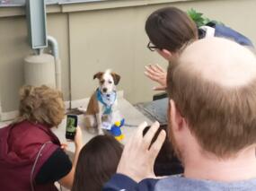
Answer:
[[204, 151], [227, 158], [256, 143], [256, 58], [247, 48], [198, 40], [169, 66], [167, 84]]

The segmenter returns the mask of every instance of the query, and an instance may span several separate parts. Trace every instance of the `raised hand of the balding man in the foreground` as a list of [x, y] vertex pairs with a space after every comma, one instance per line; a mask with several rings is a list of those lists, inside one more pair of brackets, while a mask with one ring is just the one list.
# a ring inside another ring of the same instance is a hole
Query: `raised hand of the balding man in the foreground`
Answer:
[[155, 122], [144, 136], [143, 130], [146, 127], [146, 122], [138, 126], [137, 132], [130, 137], [125, 145], [119, 161], [118, 173], [124, 174], [137, 182], [144, 178], [155, 178], [154, 161], [166, 136], [165, 131], [162, 130], [151, 145], [159, 126], [159, 123]]

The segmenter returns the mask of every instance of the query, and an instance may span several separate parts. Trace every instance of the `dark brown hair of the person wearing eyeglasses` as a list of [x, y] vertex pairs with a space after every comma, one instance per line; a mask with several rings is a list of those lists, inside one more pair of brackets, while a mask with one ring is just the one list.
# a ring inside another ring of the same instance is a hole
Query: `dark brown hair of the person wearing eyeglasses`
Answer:
[[151, 13], [145, 28], [155, 47], [171, 52], [176, 52], [191, 40], [198, 39], [196, 23], [187, 13], [175, 7], [166, 7]]

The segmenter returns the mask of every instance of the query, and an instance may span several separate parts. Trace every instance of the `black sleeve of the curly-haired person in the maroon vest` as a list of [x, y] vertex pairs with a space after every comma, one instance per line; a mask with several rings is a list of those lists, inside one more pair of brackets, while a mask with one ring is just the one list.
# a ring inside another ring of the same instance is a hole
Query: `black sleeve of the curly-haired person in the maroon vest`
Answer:
[[58, 148], [50, 155], [49, 160], [42, 165], [35, 178], [35, 182], [36, 184], [55, 182], [65, 177], [71, 169], [72, 162], [67, 154], [61, 148]]

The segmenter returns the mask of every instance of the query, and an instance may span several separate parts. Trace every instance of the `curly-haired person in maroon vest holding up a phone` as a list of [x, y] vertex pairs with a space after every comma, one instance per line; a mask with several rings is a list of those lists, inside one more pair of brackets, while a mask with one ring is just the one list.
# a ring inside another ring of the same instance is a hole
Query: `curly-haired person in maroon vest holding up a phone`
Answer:
[[82, 135], [78, 126], [72, 164], [50, 130], [64, 117], [60, 91], [45, 85], [22, 87], [19, 117], [0, 129], [2, 190], [54, 191], [57, 190], [55, 181], [64, 187], [72, 187], [78, 154], [83, 146]]

